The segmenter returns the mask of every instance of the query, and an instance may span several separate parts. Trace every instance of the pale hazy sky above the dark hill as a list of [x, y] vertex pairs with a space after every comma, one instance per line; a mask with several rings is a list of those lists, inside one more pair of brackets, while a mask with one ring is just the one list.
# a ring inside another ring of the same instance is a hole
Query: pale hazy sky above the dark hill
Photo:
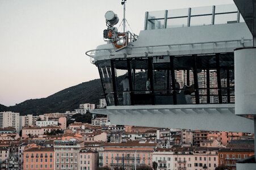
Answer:
[[[85, 52], [104, 44], [104, 14], [121, 20], [121, 0], [0, 0], [0, 104], [47, 97], [99, 78]], [[139, 35], [145, 11], [233, 3], [232, 0], [127, 0]], [[119, 24], [117, 24], [119, 26]]]

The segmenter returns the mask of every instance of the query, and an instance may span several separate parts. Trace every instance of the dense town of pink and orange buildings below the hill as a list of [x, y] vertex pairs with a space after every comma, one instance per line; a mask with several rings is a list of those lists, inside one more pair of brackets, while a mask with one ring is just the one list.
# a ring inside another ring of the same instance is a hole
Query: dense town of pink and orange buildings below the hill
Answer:
[[0, 112], [0, 169], [236, 169], [237, 160], [254, 155], [251, 133], [112, 125], [103, 115], [72, 122], [94, 108]]

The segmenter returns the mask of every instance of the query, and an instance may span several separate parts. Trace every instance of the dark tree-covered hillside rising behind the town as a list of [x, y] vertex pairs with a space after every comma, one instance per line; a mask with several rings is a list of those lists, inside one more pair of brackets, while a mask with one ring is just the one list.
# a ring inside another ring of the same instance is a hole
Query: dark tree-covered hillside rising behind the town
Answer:
[[100, 79], [95, 79], [66, 88], [46, 98], [26, 100], [11, 107], [0, 105], [0, 111], [19, 112], [20, 115], [74, 111], [82, 103], [98, 104], [102, 94]]

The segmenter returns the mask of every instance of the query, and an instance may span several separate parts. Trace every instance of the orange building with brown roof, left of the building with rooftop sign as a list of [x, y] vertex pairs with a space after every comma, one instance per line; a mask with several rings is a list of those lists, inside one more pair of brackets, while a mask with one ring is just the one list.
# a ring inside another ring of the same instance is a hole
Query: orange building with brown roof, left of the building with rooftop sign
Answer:
[[24, 150], [23, 169], [54, 169], [53, 147], [32, 147]]

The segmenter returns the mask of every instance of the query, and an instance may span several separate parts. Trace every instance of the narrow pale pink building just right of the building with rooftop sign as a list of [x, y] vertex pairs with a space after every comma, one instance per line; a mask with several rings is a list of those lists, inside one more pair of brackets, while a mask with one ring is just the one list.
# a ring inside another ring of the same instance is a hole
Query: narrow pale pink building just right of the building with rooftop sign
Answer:
[[90, 149], [83, 149], [79, 152], [80, 170], [94, 170], [98, 167], [99, 153]]

